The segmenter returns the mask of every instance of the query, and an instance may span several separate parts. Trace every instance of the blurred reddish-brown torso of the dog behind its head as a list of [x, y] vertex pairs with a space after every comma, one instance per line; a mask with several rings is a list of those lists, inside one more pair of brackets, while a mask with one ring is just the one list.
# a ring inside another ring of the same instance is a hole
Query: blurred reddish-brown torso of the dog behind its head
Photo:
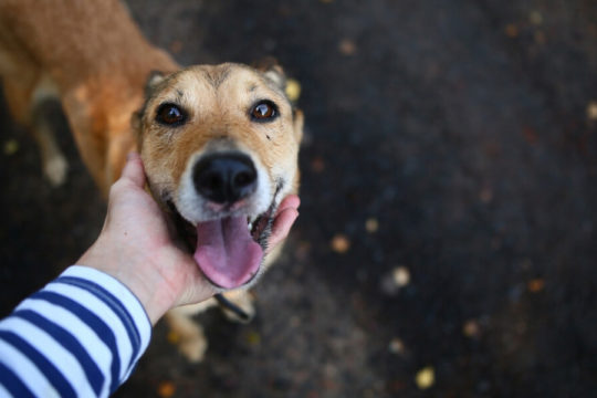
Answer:
[[149, 73], [178, 69], [119, 1], [0, 1], [0, 75], [12, 114], [33, 128], [35, 96], [57, 96], [104, 195], [135, 149], [130, 114]]

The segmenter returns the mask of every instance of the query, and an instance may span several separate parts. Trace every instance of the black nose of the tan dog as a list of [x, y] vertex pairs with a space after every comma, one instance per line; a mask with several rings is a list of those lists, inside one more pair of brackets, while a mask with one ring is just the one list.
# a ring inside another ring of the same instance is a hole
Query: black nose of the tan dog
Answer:
[[216, 203], [234, 203], [256, 188], [253, 161], [242, 154], [218, 154], [202, 158], [193, 169], [197, 191]]

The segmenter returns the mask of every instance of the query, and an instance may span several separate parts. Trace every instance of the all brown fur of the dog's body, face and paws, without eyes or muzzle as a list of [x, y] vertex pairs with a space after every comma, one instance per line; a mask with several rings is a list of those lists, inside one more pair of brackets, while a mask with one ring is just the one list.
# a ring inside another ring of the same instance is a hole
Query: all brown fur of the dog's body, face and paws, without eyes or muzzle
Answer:
[[[36, 138], [45, 175], [54, 185], [64, 181], [67, 164], [48, 125], [36, 118], [35, 109], [46, 98], [62, 103], [81, 156], [105, 196], [130, 150], [140, 149], [160, 201], [161, 191], [177, 189], [193, 154], [222, 139], [254, 154], [272, 182], [289, 177], [283, 195], [296, 192], [303, 117], [285, 98], [281, 70], [271, 66], [263, 72], [237, 64], [176, 72], [179, 66], [147, 42], [117, 0], [0, 0], [4, 95], [14, 118]], [[176, 73], [154, 82], [146, 98], [153, 71]], [[248, 107], [263, 97], [276, 102], [281, 117], [252, 123]], [[185, 104], [190, 123], [176, 130], [156, 124], [156, 107], [166, 100]], [[132, 115], [139, 108], [133, 128]], [[274, 256], [270, 254], [268, 264]], [[253, 313], [245, 291], [227, 297]], [[200, 360], [207, 344], [188, 316], [213, 304], [177, 308], [167, 316], [190, 360]]]

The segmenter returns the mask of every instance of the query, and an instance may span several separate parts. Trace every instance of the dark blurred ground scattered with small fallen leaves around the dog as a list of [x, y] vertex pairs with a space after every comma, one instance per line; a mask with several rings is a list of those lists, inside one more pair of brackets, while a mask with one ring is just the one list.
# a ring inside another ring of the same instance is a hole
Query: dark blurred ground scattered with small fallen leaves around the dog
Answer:
[[[597, 390], [597, 3], [128, 1], [182, 64], [273, 55], [302, 87], [302, 207], [258, 317], [159, 324], [118, 397], [588, 397]], [[0, 307], [104, 216], [62, 126], [41, 177], [0, 111]]]

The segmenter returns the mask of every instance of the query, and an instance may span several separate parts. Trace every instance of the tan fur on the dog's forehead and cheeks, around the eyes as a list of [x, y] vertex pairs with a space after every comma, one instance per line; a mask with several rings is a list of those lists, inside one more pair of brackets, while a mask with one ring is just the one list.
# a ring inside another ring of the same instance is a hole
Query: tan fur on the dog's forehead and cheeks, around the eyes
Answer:
[[[165, 87], [149, 98], [140, 121], [146, 170], [159, 184], [178, 185], [189, 157], [218, 138], [242, 143], [260, 155], [268, 170], [277, 168], [295, 174], [302, 117], [293, 112], [283, 88], [265, 75], [238, 64], [201, 65], [176, 73], [160, 85]], [[283, 105], [281, 117], [269, 124], [253, 123], [247, 115], [248, 108], [264, 97]], [[165, 102], [186, 105], [191, 122], [175, 132], [155, 123], [155, 108]], [[296, 189], [297, 177], [287, 192]]]

